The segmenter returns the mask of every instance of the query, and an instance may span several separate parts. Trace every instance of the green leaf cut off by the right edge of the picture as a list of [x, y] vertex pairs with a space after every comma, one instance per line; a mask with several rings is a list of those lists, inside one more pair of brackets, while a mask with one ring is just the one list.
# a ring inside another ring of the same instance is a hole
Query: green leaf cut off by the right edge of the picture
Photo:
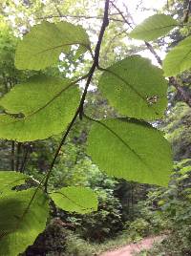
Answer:
[[178, 75], [191, 68], [191, 36], [182, 40], [163, 60], [165, 76]]

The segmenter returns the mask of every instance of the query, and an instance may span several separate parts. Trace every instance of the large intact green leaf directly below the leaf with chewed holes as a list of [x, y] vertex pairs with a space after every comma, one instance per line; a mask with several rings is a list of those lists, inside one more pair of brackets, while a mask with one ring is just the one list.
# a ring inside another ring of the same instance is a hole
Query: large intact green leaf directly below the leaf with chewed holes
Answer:
[[135, 119], [96, 121], [87, 152], [101, 170], [127, 181], [166, 185], [173, 166], [168, 141]]

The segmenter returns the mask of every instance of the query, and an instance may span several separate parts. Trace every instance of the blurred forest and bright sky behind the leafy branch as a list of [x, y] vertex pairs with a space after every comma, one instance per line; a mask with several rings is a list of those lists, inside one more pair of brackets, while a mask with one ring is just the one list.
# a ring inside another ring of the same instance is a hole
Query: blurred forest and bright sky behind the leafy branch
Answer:
[[[128, 36], [132, 26], [135, 27], [137, 23], [155, 13], [170, 14], [182, 24], [189, 24], [190, 1], [149, 1], [153, 4], [147, 4], [148, 6], [145, 4], [148, 1], [113, 2], [114, 5], [109, 10], [110, 25], [101, 44], [101, 67], [111, 66], [132, 54], [149, 57], [153, 64], [159, 66], [165, 54], [190, 35], [190, 27], [181, 26], [152, 42], [152, 45], [130, 39]], [[94, 0], [1, 2], [1, 96], [32, 75], [38, 74], [19, 71], [14, 66], [16, 46], [21, 38], [30, 32], [33, 25], [41, 23], [42, 20], [66, 20], [75, 25], [82, 25], [95, 46], [103, 9], [104, 1]], [[42, 74], [60, 78], [74, 78], [79, 74], [86, 74], [91, 63], [91, 54], [85, 53], [76, 60], [74, 51], [75, 49], [72, 49], [67, 55], [67, 60], [66, 55], [61, 53], [57, 63]], [[116, 110], [108, 104], [96, 87], [99, 73], [96, 72], [91, 82], [84, 106], [86, 113], [96, 119], [117, 117]], [[86, 154], [91, 122], [86, 118], [82, 121], [77, 119], [67, 142], [59, 152], [58, 160], [53, 165], [49, 188], [68, 185], [92, 188], [98, 197], [98, 210], [81, 215], [63, 211], [52, 205], [50, 224], [24, 255], [99, 255], [108, 248], [126, 245], [154, 234], [167, 235], [162, 244], [156, 245], [151, 252], [146, 252], [148, 255], [190, 255], [190, 72], [178, 75], [177, 81], [178, 84], [169, 80], [165, 116], [153, 122], [155, 127], [165, 133], [165, 138], [173, 149], [174, 171], [168, 187], [107, 176]], [[84, 88], [83, 82], [80, 87]], [[41, 181], [50, 169], [60, 139], [61, 135], [32, 142], [2, 139], [0, 169], [30, 175], [34, 183]], [[27, 185], [31, 186], [30, 183]]]

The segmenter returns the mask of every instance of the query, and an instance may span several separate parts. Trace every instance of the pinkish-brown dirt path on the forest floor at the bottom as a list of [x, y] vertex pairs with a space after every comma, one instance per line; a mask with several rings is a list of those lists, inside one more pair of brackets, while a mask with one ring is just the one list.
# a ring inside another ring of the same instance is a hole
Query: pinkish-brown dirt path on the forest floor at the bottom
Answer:
[[162, 241], [163, 236], [158, 237], [149, 237], [141, 240], [137, 244], [130, 244], [118, 248], [114, 251], [104, 252], [100, 256], [133, 256], [136, 252], [141, 251], [142, 249], [149, 249], [156, 242]]

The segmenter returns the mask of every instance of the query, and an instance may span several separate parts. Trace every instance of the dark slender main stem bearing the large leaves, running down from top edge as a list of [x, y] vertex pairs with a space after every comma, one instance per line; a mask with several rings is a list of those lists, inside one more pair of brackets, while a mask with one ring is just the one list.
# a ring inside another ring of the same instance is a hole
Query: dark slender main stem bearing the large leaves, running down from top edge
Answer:
[[91, 80], [92, 80], [92, 77], [96, 71], [96, 68], [98, 67], [98, 61], [99, 61], [99, 52], [100, 52], [100, 46], [101, 46], [101, 42], [102, 42], [102, 39], [103, 39], [103, 35], [104, 35], [104, 32], [106, 30], [106, 27], [109, 25], [109, 19], [108, 19], [108, 11], [109, 11], [109, 3], [110, 3], [110, 0], [106, 0], [105, 1], [105, 8], [104, 8], [104, 16], [103, 16], [103, 21], [102, 21], [102, 25], [101, 25], [101, 30], [99, 32], [99, 35], [98, 35], [98, 40], [97, 40], [97, 43], [96, 43], [96, 49], [95, 49], [95, 55], [94, 55], [94, 62], [93, 62], [93, 65], [89, 71], [89, 74], [88, 74], [88, 78], [87, 78], [87, 81], [86, 81], [86, 85], [85, 85], [85, 89], [84, 89], [84, 92], [83, 92], [83, 95], [81, 96], [81, 99], [80, 99], [80, 102], [79, 102], [79, 105], [78, 105], [78, 108], [74, 114], [74, 117], [71, 121], [71, 123], [69, 124], [63, 138], [61, 139], [60, 141], [60, 144], [55, 152], [55, 155], [53, 157], [53, 161], [52, 161], [52, 164], [50, 166], [50, 169], [47, 173], [47, 176], [45, 178], [45, 182], [44, 182], [44, 186], [45, 186], [45, 192], [48, 192], [48, 181], [50, 179], [50, 176], [52, 174], [52, 171], [53, 171], [53, 166], [54, 166], [54, 163], [55, 163], [55, 160], [57, 159], [58, 155], [59, 155], [59, 152], [60, 152], [60, 149], [61, 147], [63, 146], [65, 140], [67, 139], [73, 125], [74, 125], [74, 121], [76, 119], [76, 117], [79, 117], [81, 118], [83, 116], [83, 105], [84, 105], [84, 101], [85, 101], [85, 98], [86, 98], [86, 95], [87, 95], [87, 92], [88, 92], [88, 88], [89, 88], [89, 85], [91, 83]]

